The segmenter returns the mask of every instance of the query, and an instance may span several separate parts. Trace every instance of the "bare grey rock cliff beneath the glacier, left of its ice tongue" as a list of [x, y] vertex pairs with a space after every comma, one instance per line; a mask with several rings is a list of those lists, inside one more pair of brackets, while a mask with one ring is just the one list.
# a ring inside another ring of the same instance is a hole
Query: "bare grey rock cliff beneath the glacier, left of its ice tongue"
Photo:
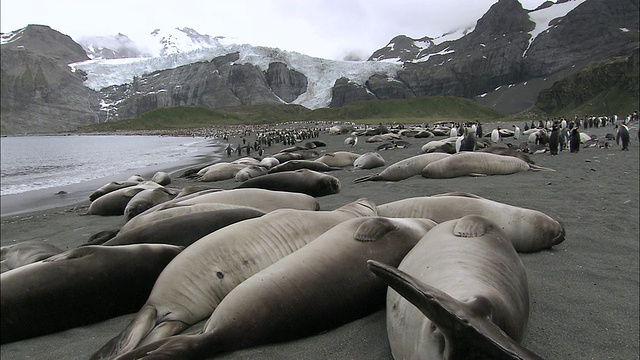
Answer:
[[[103, 107], [100, 118], [129, 119], [150, 110], [177, 105], [216, 109], [279, 104], [282, 96], [297, 97], [303, 83], [306, 87], [299, 75], [276, 65], [274, 69], [279, 68], [280, 72], [273, 70], [270, 74], [273, 83], [280, 86], [278, 94], [268, 83], [269, 72], [265, 74], [254, 65], [234, 63], [237, 60], [238, 53], [232, 53], [208, 62], [147, 74], [135, 78], [132, 84], [103, 89], [101, 96], [109, 106]], [[284, 82], [278, 82], [282, 79], [292, 84], [288, 92], [284, 90]]]

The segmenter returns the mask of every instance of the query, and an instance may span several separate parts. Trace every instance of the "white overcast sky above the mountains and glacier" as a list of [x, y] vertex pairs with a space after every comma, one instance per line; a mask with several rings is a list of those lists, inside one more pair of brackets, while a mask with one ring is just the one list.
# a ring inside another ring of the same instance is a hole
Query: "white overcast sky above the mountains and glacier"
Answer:
[[[2, 32], [48, 25], [78, 39], [191, 27], [233, 42], [366, 59], [396, 35], [437, 37], [473, 25], [497, 0], [2, 0]], [[532, 9], [544, 0], [521, 0]]]

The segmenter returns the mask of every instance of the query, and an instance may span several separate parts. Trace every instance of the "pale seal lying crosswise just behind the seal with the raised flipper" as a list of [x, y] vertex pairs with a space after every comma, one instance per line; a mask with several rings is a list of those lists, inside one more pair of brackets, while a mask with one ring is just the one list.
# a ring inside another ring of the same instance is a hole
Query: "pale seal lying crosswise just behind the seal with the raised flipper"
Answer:
[[536, 210], [482, 198], [468, 193], [414, 197], [378, 205], [380, 216], [421, 217], [437, 223], [466, 215], [492, 219], [507, 234], [518, 252], [548, 249], [564, 241], [562, 224]]

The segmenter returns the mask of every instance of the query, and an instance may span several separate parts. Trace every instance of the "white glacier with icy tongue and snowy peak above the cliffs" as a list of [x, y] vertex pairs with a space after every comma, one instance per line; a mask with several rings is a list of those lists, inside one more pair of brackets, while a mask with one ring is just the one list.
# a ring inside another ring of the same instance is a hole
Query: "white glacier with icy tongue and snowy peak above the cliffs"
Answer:
[[[69, 66], [73, 71], [81, 70], [86, 73], [85, 85], [99, 91], [102, 88], [131, 83], [134, 77], [141, 77], [144, 74], [196, 62], [211, 61], [216, 57], [238, 52], [240, 58], [234, 62], [235, 64], [251, 64], [266, 71], [270, 63], [280, 62], [290, 69], [303, 73], [307, 77], [307, 91], [292, 103], [310, 109], [329, 106], [333, 84], [341, 77], [347, 77], [359, 85], [364, 85], [374, 74], [394, 77], [402, 68], [402, 64], [397, 62], [335, 61], [297, 52], [227, 43], [223, 37], [201, 35], [190, 28], [172, 31], [156, 29], [151, 35], [160, 44], [160, 54], [157, 56], [94, 58], [72, 63]], [[103, 102], [103, 106], [110, 105], [108, 101]]]

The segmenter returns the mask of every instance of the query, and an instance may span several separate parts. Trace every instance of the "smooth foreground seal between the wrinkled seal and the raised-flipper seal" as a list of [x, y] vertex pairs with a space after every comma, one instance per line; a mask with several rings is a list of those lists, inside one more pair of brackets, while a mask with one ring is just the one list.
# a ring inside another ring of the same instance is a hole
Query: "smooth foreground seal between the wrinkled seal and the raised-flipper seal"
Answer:
[[367, 260], [399, 264], [435, 225], [383, 217], [347, 220], [231, 290], [202, 333], [161, 340], [122, 358], [158, 352], [204, 359], [313, 335], [364, 317], [384, 306], [386, 293]]

